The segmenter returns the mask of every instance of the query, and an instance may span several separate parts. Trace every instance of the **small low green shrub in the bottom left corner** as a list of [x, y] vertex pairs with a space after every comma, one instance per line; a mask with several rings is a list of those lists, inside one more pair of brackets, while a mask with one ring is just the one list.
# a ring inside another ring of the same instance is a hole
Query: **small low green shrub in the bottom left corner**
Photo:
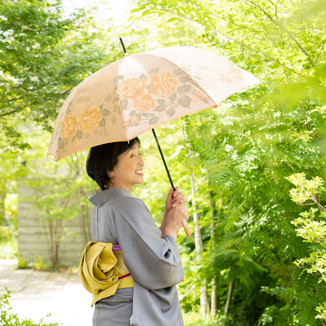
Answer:
[[[6, 288], [7, 290], [7, 288]], [[57, 323], [47, 324], [40, 319], [38, 323], [33, 322], [31, 319], [20, 319], [17, 314], [10, 312], [12, 309], [8, 298], [10, 298], [10, 292], [1, 294], [0, 296], [0, 325], [1, 326], [59, 326]]]

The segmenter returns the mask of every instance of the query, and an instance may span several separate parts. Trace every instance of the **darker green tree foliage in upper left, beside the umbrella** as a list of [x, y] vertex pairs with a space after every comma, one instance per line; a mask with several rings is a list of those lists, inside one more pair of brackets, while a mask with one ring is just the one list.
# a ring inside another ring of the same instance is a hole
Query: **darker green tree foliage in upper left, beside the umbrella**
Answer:
[[86, 32], [92, 28], [88, 15], [80, 10], [63, 18], [61, 0], [4, 0], [0, 12], [1, 141], [23, 149], [28, 144], [19, 141], [14, 121], [49, 130], [58, 112], [53, 108], [97, 70], [104, 53], [94, 42], [100, 35]]

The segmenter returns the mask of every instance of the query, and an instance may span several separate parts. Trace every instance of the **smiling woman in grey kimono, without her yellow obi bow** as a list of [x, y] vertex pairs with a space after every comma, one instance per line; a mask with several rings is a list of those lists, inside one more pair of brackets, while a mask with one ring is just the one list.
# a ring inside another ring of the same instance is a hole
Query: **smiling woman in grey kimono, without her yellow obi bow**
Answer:
[[179, 187], [170, 189], [158, 228], [144, 202], [130, 195], [144, 181], [143, 167], [138, 138], [92, 147], [87, 158], [87, 173], [101, 188], [88, 196], [94, 204], [92, 238], [121, 250], [117, 270], [126, 273], [116, 278], [121, 283], [111, 295], [94, 295], [93, 326], [183, 325], [176, 289], [183, 269], [176, 239], [181, 221], [189, 217], [187, 198]]

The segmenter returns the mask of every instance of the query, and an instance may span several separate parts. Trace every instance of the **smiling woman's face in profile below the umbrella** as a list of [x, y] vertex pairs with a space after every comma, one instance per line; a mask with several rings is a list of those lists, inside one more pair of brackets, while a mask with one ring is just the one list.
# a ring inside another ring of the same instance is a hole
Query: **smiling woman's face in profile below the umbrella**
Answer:
[[144, 160], [141, 157], [139, 145], [126, 150], [118, 157], [118, 163], [108, 172], [112, 178], [110, 188], [122, 188], [131, 193], [132, 187], [144, 182], [142, 169]]

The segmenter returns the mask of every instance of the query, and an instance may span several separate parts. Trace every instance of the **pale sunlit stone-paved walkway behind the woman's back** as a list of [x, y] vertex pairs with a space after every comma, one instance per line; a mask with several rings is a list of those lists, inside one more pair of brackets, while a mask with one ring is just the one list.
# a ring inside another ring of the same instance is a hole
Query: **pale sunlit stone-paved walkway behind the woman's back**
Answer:
[[[0, 294], [10, 293], [12, 313], [21, 319], [62, 326], [91, 326], [92, 294], [76, 274], [17, 269], [17, 260], [0, 259]], [[46, 317], [51, 313], [51, 316]]]

